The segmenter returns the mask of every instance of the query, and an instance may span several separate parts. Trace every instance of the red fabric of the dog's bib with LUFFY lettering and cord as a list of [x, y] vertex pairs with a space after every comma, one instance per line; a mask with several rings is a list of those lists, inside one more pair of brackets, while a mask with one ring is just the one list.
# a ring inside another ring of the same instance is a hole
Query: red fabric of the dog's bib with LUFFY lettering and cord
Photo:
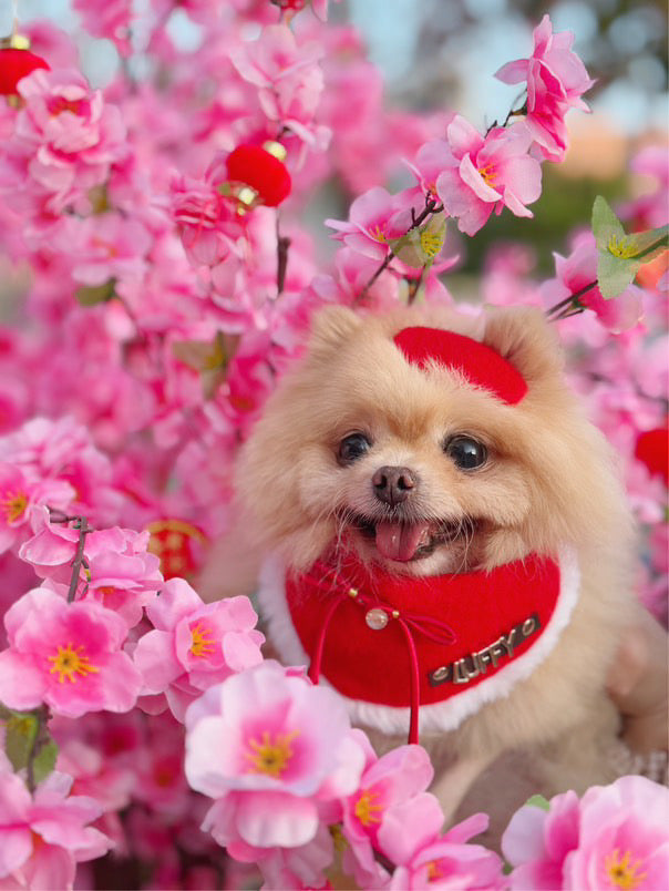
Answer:
[[[512, 664], [542, 637], [560, 593], [556, 562], [531, 555], [490, 573], [413, 578], [358, 562], [286, 580], [290, 619], [343, 696], [387, 706], [443, 703]], [[418, 739], [418, 715], [412, 715]]]

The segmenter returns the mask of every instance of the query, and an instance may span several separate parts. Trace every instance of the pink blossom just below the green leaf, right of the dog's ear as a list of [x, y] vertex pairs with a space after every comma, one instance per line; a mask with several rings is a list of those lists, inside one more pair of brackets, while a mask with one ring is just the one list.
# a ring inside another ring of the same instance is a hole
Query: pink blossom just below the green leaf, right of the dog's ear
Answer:
[[591, 309], [599, 322], [613, 334], [620, 334], [637, 326], [642, 316], [641, 289], [629, 285], [613, 300], [605, 300], [596, 286], [597, 246], [591, 233], [581, 233], [573, 243], [568, 257], [554, 254], [556, 277], [546, 281], [541, 293], [548, 306], [555, 306], [570, 294], [578, 294], [587, 285], [594, 284], [578, 297], [578, 304]]

